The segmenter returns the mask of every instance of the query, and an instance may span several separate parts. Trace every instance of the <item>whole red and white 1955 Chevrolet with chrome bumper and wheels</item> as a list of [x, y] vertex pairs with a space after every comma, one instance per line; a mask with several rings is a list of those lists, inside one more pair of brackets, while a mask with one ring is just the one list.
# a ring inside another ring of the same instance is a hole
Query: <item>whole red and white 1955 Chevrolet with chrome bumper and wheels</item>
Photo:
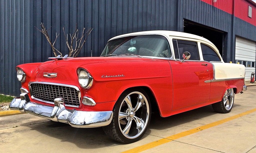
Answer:
[[234, 94], [247, 90], [243, 65], [224, 63], [214, 44], [183, 32], [124, 34], [110, 39], [101, 57], [49, 59], [17, 66], [21, 94], [10, 109], [102, 126], [122, 143], [144, 135], [151, 110], [168, 117], [211, 104], [228, 113]]

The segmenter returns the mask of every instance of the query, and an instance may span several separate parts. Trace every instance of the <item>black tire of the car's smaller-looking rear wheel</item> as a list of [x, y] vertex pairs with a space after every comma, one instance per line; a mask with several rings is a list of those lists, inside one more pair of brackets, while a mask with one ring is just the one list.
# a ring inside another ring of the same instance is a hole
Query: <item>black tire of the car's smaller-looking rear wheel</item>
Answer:
[[[228, 102], [225, 100], [228, 100]], [[229, 103], [227, 107], [227, 103]], [[223, 98], [221, 101], [211, 104], [212, 108], [214, 111], [219, 112], [219, 113], [229, 113], [231, 109], [233, 108], [233, 103], [234, 103], [234, 91], [233, 88], [230, 88], [226, 90]]]

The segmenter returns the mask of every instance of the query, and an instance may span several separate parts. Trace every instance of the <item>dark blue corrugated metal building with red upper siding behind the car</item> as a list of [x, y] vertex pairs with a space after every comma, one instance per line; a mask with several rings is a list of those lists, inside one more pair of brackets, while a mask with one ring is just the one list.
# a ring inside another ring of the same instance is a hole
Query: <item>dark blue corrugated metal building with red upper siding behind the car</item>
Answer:
[[47, 61], [51, 47], [35, 27], [43, 22], [55, 47], [68, 53], [62, 32], [93, 28], [80, 56], [99, 56], [116, 35], [172, 30], [203, 36], [225, 62], [246, 66], [246, 81], [255, 72], [256, 4], [251, 0], [0, 0], [0, 93], [18, 96], [15, 67]]

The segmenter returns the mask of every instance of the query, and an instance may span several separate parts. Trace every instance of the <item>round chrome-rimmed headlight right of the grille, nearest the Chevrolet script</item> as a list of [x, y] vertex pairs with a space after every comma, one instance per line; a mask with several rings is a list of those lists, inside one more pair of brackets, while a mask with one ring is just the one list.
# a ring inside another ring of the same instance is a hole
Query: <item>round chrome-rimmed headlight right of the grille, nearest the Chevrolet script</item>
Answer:
[[78, 82], [83, 88], [90, 88], [92, 86], [92, 77], [91, 75], [84, 69], [78, 70]]

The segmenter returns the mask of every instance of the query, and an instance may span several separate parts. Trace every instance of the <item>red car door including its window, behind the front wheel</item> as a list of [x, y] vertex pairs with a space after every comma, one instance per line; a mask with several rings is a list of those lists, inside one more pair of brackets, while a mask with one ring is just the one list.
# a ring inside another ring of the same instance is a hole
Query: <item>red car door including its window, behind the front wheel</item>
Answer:
[[[198, 43], [186, 40], [172, 40], [176, 60], [169, 61], [173, 77], [173, 107], [178, 110], [201, 103], [210, 97], [211, 63], [200, 61]], [[182, 62], [184, 52], [191, 57]]]

